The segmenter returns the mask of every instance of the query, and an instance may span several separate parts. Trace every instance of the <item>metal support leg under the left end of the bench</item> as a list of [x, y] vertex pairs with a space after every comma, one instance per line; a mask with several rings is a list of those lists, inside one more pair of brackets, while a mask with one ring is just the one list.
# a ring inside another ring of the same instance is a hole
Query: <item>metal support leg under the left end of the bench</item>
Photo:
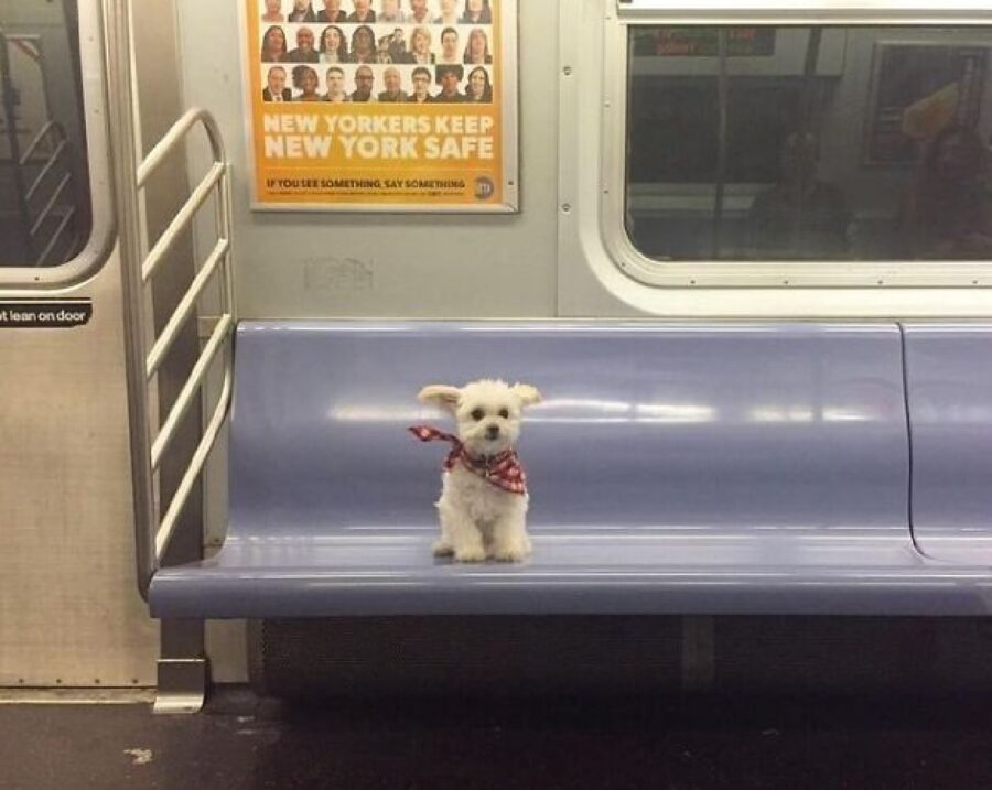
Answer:
[[209, 662], [203, 620], [162, 620], [159, 691], [154, 713], [198, 713], [206, 700]]

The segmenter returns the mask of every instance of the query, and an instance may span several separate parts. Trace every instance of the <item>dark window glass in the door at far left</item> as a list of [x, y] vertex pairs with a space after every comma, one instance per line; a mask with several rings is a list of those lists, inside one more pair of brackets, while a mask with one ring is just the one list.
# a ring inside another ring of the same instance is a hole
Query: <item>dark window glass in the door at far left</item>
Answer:
[[0, 267], [71, 260], [91, 230], [76, 0], [0, 0]]

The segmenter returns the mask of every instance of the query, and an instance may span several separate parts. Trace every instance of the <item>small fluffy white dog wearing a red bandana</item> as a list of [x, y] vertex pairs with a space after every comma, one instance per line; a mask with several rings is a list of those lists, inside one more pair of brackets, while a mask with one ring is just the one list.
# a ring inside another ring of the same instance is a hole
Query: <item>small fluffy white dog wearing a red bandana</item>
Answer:
[[457, 436], [424, 425], [410, 429], [423, 442], [452, 443], [438, 500], [441, 539], [434, 554], [453, 554], [457, 562], [524, 560], [530, 553], [530, 495], [515, 447], [521, 412], [540, 403], [541, 393], [530, 385], [483, 380], [461, 389], [432, 385], [418, 398], [441, 407], [457, 422]]

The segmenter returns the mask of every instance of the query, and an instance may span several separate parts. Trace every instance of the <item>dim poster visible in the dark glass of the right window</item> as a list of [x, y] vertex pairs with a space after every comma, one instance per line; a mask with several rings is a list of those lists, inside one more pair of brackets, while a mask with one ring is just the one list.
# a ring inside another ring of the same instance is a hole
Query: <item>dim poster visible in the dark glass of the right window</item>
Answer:
[[914, 163], [948, 123], [974, 128], [986, 61], [983, 46], [878, 44], [865, 162]]

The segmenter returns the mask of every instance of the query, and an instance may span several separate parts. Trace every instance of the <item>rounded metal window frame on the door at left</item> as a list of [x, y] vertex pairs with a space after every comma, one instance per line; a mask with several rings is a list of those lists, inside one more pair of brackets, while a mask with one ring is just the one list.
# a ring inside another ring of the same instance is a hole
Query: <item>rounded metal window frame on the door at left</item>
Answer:
[[72, 260], [51, 267], [0, 267], [0, 295], [23, 296], [72, 288], [91, 278], [110, 258], [116, 218], [107, 126], [104, 9], [100, 0], [78, 0], [83, 112], [93, 225]]

